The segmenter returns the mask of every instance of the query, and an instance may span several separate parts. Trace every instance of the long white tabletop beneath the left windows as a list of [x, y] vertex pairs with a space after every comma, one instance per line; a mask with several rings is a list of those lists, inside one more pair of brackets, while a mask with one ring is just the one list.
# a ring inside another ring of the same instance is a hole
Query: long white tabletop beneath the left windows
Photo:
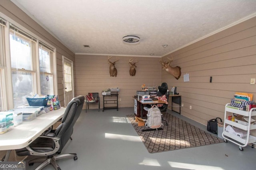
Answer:
[[52, 126], [64, 115], [66, 107], [43, 113], [32, 121], [24, 121], [12, 130], [0, 135], [0, 150], [13, 150], [27, 147], [48, 127]]

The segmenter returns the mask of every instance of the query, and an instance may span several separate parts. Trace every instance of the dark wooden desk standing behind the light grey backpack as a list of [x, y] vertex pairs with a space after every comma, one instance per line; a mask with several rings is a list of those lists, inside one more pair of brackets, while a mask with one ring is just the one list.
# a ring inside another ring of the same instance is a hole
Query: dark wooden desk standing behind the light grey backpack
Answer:
[[142, 102], [138, 98], [134, 98], [134, 115], [141, 118], [146, 118], [148, 111], [143, 109], [143, 105], [147, 104], [164, 104], [162, 100], [153, 100], [152, 102]]

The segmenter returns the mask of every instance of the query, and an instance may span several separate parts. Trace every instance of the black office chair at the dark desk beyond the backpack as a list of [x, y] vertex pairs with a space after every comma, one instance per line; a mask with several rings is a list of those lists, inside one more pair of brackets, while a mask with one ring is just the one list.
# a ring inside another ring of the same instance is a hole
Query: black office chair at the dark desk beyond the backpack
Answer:
[[[168, 85], [167, 83], [162, 83], [161, 86], [158, 86], [158, 91], [156, 93], [156, 96], [166, 96], [166, 100], [167, 102], [169, 102], [169, 95], [170, 95], [170, 91], [168, 90]], [[168, 104], [163, 104], [162, 107], [158, 107], [161, 111], [161, 113], [165, 113], [168, 109]], [[162, 121], [165, 121], [165, 125], [168, 125], [167, 121], [164, 120], [164, 118], [162, 117]]]

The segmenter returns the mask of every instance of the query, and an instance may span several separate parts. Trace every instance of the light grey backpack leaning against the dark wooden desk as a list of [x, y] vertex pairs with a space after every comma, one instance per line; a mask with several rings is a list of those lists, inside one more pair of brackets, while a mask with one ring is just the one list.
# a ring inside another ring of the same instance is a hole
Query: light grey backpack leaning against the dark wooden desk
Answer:
[[157, 129], [162, 125], [162, 113], [156, 105], [153, 105], [150, 109], [148, 109], [148, 121], [145, 126], [150, 127], [151, 129]]

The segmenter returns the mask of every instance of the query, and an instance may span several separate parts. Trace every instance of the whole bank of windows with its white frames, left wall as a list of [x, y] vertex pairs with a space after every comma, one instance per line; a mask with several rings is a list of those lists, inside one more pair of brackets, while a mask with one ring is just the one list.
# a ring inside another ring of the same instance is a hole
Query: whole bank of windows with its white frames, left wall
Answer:
[[17, 26], [0, 18], [0, 111], [58, 91], [54, 48]]

